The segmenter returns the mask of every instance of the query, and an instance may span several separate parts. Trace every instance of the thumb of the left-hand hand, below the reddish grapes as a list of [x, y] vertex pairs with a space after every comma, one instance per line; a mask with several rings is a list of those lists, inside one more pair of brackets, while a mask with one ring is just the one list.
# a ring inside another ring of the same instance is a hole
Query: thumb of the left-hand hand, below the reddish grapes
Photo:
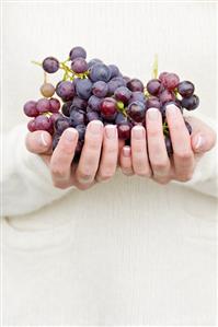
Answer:
[[51, 136], [42, 130], [28, 132], [25, 139], [27, 150], [37, 154], [49, 152], [51, 142]]

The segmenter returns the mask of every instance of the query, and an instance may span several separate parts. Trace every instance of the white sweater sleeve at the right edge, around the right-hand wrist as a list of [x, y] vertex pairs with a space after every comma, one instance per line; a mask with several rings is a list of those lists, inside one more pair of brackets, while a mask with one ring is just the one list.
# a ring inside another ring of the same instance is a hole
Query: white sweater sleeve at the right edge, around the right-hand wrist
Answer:
[[[217, 124], [211, 118], [194, 113], [192, 116], [199, 118], [207, 124], [215, 131], [217, 130]], [[183, 184], [184, 187], [192, 188], [198, 192], [218, 198], [218, 147], [216, 145], [208, 152], [206, 152], [198, 161], [193, 178]]]

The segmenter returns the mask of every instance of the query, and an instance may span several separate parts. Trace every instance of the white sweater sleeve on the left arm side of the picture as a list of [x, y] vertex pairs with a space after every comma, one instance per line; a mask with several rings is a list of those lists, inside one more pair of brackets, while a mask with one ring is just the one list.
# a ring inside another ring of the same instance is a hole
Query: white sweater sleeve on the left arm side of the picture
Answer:
[[25, 148], [26, 127], [13, 128], [2, 135], [2, 215], [19, 215], [35, 211], [64, 197], [67, 190], [53, 186], [49, 170], [43, 160]]

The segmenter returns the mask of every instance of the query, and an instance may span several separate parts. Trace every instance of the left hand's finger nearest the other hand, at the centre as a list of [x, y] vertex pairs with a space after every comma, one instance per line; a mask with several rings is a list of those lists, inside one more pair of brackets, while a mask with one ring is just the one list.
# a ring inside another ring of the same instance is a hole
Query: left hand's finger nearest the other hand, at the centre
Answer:
[[107, 125], [104, 129], [103, 150], [96, 180], [107, 180], [116, 172], [118, 156], [118, 137], [115, 125]]

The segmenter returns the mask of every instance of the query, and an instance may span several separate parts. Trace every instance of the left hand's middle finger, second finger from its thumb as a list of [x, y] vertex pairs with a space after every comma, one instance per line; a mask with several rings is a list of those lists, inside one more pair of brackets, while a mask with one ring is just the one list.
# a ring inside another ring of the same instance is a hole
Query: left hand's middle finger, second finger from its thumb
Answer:
[[103, 140], [103, 124], [92, 120], [85, 131], [84, 145], [76, 171], [80, 184], [91, 184], [94, 180], [101, 155]]

